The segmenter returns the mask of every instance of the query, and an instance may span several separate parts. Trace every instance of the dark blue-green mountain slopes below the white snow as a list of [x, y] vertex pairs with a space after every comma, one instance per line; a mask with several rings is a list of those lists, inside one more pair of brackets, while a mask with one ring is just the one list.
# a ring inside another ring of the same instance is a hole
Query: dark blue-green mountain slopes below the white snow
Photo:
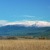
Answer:
[[45, 36], [46, 34], [50, 35], [50, 27], [25, 27], [19, 25], [0, 27], [0, 36]]

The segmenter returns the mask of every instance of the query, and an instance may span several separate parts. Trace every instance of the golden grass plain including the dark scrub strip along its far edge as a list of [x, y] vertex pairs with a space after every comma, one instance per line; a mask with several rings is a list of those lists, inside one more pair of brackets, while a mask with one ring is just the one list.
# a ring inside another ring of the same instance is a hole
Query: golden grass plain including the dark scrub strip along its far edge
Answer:
[[50, 50], [50, 40], [42, 36], [0, 36], [0, 50]]

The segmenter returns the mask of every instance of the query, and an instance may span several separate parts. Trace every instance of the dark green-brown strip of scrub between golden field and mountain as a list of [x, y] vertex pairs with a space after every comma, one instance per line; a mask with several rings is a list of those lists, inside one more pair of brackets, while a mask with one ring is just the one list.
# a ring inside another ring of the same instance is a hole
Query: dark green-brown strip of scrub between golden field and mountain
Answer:
[[17, 39], [50, 39], [50, 38], [47, 38], [47, 37], [34, 37], [34, 36], [0, 36], [0, 40], [2, 39], [8, 39], [8, 40], [17, 40]]

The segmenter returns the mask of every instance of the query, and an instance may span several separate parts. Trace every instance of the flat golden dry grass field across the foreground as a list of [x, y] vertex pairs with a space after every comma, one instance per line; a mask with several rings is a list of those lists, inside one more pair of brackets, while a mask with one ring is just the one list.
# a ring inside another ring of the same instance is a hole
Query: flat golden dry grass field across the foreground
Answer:
[[0, 50], [50, 50], [50, 40], [0, 40]]

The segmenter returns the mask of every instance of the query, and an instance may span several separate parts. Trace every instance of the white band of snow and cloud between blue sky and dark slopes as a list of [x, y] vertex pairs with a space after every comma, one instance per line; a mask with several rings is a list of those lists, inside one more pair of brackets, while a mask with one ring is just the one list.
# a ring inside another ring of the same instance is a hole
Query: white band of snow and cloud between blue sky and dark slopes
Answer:
[[17, 25], [17, 24], [24, 25], [24, 26], [36, 25], [38, 27], [48, 27], [48, 26], [50, 26], [50, 22], [47, 22], [47, 21], [28, 21], [28, 20], [22, 20], [22, 21], [8, 22], [6, 20], [0, 20], [0, 26]]

